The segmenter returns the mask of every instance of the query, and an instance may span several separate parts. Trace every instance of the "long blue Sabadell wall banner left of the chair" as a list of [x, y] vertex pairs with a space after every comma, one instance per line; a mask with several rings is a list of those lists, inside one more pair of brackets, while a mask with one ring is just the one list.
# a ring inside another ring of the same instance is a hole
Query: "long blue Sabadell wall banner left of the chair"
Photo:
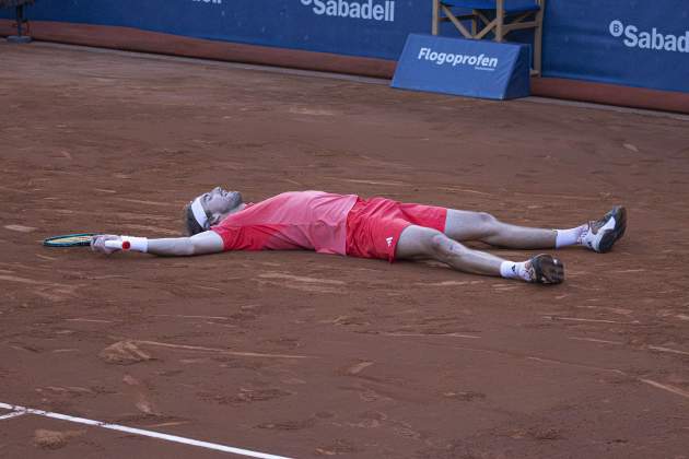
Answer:
[[[429, 32], [419, 0], [38, 0], [34, 21], [136, 27], [222, 42], [396, 60]], [[430, 2], [428, 2], [430, 4]], [[0, 10], [1, 12], [2, 10]], [[10, 17], [9, 11], [5, 17]]]

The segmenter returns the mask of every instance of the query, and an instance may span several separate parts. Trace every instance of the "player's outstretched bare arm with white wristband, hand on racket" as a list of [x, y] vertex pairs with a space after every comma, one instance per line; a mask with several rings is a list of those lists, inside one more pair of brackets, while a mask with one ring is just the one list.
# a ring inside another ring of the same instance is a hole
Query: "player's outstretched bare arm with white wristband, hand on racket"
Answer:
[[133, 250], [164, 257], [188, 257], [191, 255], [223, 251], [222, 238], [212, 231], [191, 237], [165, 237], [149, 239], [135, 236], [100, 235], [91, 239], [93, 251], [109, 255], [118, 250]]

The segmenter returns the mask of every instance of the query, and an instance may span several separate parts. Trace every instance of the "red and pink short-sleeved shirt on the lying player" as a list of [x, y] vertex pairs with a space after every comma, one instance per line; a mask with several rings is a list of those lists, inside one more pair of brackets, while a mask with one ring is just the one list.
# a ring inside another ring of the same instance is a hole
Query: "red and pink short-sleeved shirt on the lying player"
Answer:
[[225, 250], [310, 249], [346, 255], [347, 215], [357, 195], [291, 191], [225, 217], [211, 229]]

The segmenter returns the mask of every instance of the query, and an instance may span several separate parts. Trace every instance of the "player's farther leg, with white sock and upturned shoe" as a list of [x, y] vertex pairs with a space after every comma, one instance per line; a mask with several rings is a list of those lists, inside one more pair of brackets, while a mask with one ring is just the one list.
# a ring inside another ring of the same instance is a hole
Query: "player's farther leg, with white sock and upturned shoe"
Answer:
[[599, 220], [570, 229], [545, 229], [503, 223], [486, 212], [448, 209], [445, 235], [464, 240], [480, 240], [499, 247], [518, 249], [561, 248], [585, 246], [606, 252], [619, 240], [627, 228], [627, 211], [615, 207]]

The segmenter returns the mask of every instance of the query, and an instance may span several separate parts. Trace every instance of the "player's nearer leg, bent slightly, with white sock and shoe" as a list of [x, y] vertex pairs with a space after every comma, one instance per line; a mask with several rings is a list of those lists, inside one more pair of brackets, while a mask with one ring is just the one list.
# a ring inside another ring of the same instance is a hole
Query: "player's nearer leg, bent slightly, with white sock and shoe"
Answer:
[[401, 233], [395, 255], [398, 259], [433, 259], [457, 271], [522, 279], [526, 282], [560, 283], [564, 280], [564, 267], [549, 255], [513, 262], [470, 249], [436, 229], [417, 225], [408, 226]]

